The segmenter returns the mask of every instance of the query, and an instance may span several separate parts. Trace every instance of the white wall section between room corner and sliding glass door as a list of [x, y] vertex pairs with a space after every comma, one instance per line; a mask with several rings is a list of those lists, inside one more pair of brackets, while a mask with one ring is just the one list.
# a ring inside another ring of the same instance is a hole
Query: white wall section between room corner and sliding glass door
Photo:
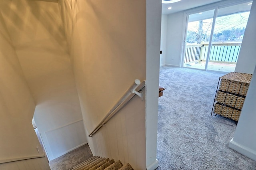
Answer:
[[168, 15], [166, 65], [181, 66], [184, 29], [184, 12]]

